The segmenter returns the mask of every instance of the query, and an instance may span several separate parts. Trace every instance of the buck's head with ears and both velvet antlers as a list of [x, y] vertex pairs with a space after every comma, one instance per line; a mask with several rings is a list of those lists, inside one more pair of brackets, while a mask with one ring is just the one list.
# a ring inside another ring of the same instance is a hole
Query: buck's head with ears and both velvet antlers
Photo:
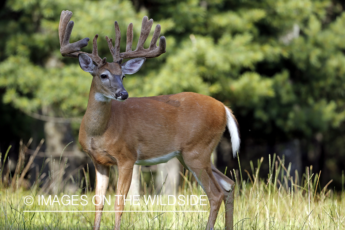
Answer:
[[[112, 45], [112, 38], [106, 36], [113, 58], [113, 62], [107, 62], [106, 58], [102, 59], [98, 56], [98, 34], [93, 38], [92, 53], [80, 51], [81, 48], [87, 46], [90, 40], [89, 38], [84, 38], [73, 43], [69, 42], [74, 26], [74, 22], [70, 21], [71, 17], [71, 11], [66, 10], [61, 12], [59, 23], [60, 52], [63, 57], [78, 58], [81, 69], [89, 72], [93, 76], [92, 90], [94, 91], [95, 99], [98, 101], [109, 102], [112, 99], [118, 101], [126, 100], [128, 93], [122, 84], [125, 74], [136, 73], [142, 64], [144, 64], [146, 58], [158, 57], [160, 54], [166, 52], [164, 36], [160, 37], [159, 46], [156, 44], [160, 35], [159, 24], [155, 28], [149, 48], [144, 49], [144, 43], [149, 36], [153, 24], [153, 20], [148, 20], [148, 17], [145, 16], [142, 19], [141, 33], [136, 50], [132, 51], [133, 24], [130, 23], [127, 28], [126, 52], [120, 53], [121, 32], [118, 22], [115, 21], [115, 46]], [[130, 60], [122, 63], [123, 59]]]

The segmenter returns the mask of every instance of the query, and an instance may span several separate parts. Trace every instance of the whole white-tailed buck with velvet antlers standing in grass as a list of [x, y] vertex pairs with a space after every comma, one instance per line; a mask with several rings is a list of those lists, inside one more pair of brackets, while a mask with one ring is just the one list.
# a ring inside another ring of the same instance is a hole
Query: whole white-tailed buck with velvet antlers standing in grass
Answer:
[[[96, 34], [92, 53], [81, 52], [89, 38], [69, 43], [72, 12], [62, 11], [59, 24], [61, 54], [78, 58], [82, 70], [93, 79], [85, 116], [79, 131], [79, 142], [96, 168], [96, 214], [94, 229], [99, 229], [103, 210], [102, 197], [109, 183], [110, 166], [117, 165], [119, 178], [115, 201], [115, 229], [120, 229], [121, 215], [134, 164], [154, 165], [177, 157], [191, 171], [205, 190], [210, 203], [206, 229], [214, 229], [218, 210], [224, 200], [226, 229], [233, 229], [233, 186], [210, 161], [226, 127], [233, 154], [239, 149], [237, 121], [229, 108], [214, 98], [182, 92], [157, 97], [128, 98], [122, 81], [125, 74], [137, 72], [146, 58], [165, 53], [166, 42], [156, 26], [150, 46], [144, 49], [153, 20], [145, 16], [135, 51], [132, 51], [133, 25], [127, 29], [126, 52], [120, 53], [120, 29], [115, 21], [115, 46], [106, 36], [113, 62], [100, 58]], [[122, 63], [123, 59], [130, 59]], [[125, 101], [126, 100], [126, 101]], [[125, 101], [125, 102], [124, 102]], [[120, 200], [118, 200], [120, 199]], [[118, 205], [119, 203], [119, 205]]]

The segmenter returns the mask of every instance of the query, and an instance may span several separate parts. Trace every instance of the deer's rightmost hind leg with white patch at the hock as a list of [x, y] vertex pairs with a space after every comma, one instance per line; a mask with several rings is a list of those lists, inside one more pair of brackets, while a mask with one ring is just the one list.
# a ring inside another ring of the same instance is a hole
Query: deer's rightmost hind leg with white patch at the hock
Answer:
[[212, 165], [212, 173], [224, 192], [225, 229], [232, 230], [234, 226], [234, 184], [235, 182], [221, 173]]

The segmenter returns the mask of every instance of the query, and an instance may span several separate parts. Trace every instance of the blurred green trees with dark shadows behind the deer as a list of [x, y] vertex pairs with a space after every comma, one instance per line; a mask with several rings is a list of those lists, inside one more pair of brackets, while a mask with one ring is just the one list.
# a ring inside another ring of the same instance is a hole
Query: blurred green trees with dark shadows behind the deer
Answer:
[[[147, 15], [161, 24], [167, 52], [125, 79], [130, 97], [210, 95], [237, 116], [243, 168], [250, 171], [249, 160], [268, 160], [276, 152], [300, 173], [313, 164], [323, 171], [324, 184], [334, 179], [341, 188], [344, 7], [337, 0], [7, 0], [0, 12], [0, 126], [10, 131], [1, 133], [1, 151], [16, 138], [37, 136], [38, 143], [44, 136], [47, 151], [58, 152], [53, 143], [61, 148], [77, 137], [91, 77], [76, 59], [61, 57], [62, 10], [72, 11], [76, 22], [71, 41], [99, 33], [99, 54], [108, 61], [104, 36], [114, 38], [114, 20], [124, 48], [127, 25], [133, 22], [138, 36]], [[45, 129], [35, 128], [40, 126]], [[221, 142], [218, 164], [230, 170], [238, 166], [225, 151], [227, 142]]]

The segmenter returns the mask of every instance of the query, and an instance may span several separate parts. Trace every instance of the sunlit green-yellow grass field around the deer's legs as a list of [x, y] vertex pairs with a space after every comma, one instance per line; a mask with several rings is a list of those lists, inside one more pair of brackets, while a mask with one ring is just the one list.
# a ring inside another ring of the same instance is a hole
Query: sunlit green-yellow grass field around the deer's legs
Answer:
[[[244, 170], [249, 178], [247, 181], [242, 179], [241, 173], [235, 171], [228, 175], [236, 180], [234, 229], [345, 229], [344, 191], [333, 192], [328, 189], [328, 185], [320, 188], [321, 172], [313, 173], [311, 167], [302, 176], [298, 176], [296, 172], [290, 172], [288, 165], [285, 166], [284, 159], [269, 156], [269, 179], [261, 179], [258, 175], [262, 162], [263, 159], [251, 162], [251, 172]], [[4, 162], [1, 163], [4, 165]], [[0, 178], [3, 173], [4, 179], [0, 180], [0, 229], [92, 229], [94, 212], [88, 211], [95, 209], [92, 204], [94, 192], [80, 188], [73, 193], [52, 194], [48, 192], [48, 187], [39, 188], [37, 184], [24, 189], [21, 175], [26, 166], [18, 162], [21, 170], [17, 170], [10, 183], [6, 179], [10, 175], [3, 172], [1, 167]], [[163, 205], [174, 201], [168, 201], [167, 196], [159, 197], [161, 202], [159, 200], [158, 204], [146, 203], [149, 195], [146, 191], [142, 194], [145, 197], [136, 198], [139, 200], [135, 203], [134, 198], [126, 202], [127, 212], [122, 215], [121, 228], [204, 229], [209, 205], [207, 201], [198, 203], [195, 198], [200, 198], [200, 195], [201, 199], [207, 197], [203, 197], [205, 193], [194, 180], [189, 180], [189, 176], [188, 172], [184, 175], [183, 185], [175, 197], [184, 195], [183, 200], [186, 202], [187, 196], [190, 198], [195, 195], [191, 204], [188, 200], [188, 205], [187, 202], [180, 205], [182, 201], [180, 204]], [[87, 173], [84, 179], [88, 180]], [[65, 194], [69, 197], [63, 197]], [[114, 209], [114, 201], [110, 199], [115, 200], [114, 195], [113, 191], [107, 193], [110, 205], [105, 204], [104, 210], [108, 212], [103, 213], [101, 229], [112, 229], [114, 212], [111, 210]], [[224, 205], [219, 211], [216, 229], [224, 228], [223, 212]]]

